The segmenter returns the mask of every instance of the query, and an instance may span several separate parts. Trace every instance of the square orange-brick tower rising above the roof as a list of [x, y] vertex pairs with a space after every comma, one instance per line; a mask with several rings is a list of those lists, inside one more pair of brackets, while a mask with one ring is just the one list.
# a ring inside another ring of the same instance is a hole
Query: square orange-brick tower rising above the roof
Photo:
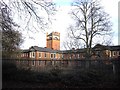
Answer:
[[53, 50], [60, 50], [60, 33], [52, 32], [50, 34], [46, 34], [46, 46], [47, 48], [51, 48]]

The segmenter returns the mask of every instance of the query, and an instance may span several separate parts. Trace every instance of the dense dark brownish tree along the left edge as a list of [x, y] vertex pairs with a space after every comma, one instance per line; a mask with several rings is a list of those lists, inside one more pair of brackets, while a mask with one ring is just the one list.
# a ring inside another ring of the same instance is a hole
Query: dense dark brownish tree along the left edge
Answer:
[[2, 33], [2, 56], [11, 58], [22, 43], [22, 35], [16, 31], [17, 24], [10, 18], [9, 8], [0, 3], [0, 33]]

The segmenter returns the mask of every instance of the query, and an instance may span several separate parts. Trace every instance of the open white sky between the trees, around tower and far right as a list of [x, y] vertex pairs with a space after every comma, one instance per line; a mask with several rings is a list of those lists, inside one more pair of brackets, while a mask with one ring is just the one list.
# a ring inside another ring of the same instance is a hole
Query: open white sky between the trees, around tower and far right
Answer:
[[[69, 24], [72, 22], [68, 12], [70, 10], [70, 2], [71, 0], [53, 0], [56, 5], [58, 12], [54, 16], [56, 21], [52, 22], [52, 25], [45, 32], [38, 32], [31, 34], [34, 39], [25, 38], [25, 41], [21, 48], [28, 49], [30, 46], [39, 46], [46, 47], [46, 32], [50, 33], [52, 31], [60, 32], [61, 35], [61, 49], [64, 49], [62, 43], [65, 39], [66, 29]], [[119, 0], [101, 0], [101, 5], [104, 7], [105, 12], [110, 14], [111, 22], [113, 24], [113, 44], [118, 45], [118, 1]]]

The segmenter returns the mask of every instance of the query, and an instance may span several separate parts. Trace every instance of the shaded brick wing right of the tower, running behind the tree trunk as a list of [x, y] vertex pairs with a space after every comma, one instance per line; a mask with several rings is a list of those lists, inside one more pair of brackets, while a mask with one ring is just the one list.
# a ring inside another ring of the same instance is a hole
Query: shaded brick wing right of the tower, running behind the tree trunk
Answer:
[[[62, 52], [63, 59], [85, 59], [85, 48], [65, 50]], [[120, 56], [120, 45], [105, 46], [97, 44], [92, 48], [91, 58], [94, 59], [112, 59]]]

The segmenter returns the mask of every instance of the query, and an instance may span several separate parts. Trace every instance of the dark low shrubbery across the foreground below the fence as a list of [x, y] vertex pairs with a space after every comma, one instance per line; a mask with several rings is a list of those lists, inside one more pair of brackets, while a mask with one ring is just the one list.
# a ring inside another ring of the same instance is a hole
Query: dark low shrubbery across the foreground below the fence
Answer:
[[[61, 69], [55, 66], [48, 71], [34, 72], [18, 69], [13, 63], [4, 63], [3, 82], [4, 81], [39, 83], [45, 86], [49, 85], [49, 83], [61, 83], [63, 87], [101, 87], [101, 85], [108, 87], [109, 82], [114, 84], [115, 80], [113, 75], [109, 75], [106, 70], [93, 68]], [[115, 84], [117, 86], [118, 82], [115, 82]]]

